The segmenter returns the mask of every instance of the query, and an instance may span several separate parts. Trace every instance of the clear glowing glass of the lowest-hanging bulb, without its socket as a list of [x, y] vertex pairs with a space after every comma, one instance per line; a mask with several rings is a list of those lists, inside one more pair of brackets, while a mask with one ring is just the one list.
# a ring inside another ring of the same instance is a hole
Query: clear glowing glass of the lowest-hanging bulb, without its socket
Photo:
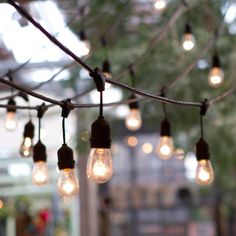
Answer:
[[59, 171], [58, 192], [64, 198], [71, 198], [79, 192], [79, 183], [74, 169]]

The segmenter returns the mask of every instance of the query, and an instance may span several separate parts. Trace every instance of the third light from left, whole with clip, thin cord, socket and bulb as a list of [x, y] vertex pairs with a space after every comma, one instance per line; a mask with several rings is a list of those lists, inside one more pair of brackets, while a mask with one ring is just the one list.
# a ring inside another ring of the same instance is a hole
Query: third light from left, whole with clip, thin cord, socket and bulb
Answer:
[[49, 181], [49, 171], [46, 164], [47, 153], [46, 146], [41, 142], [41, 118], [46, 111], [46, 106], [42, 104], [38, 109], [38, 143], [33, 148], [33, 171], [32, 171], [32, 182], [35, 185], [44, 185]]

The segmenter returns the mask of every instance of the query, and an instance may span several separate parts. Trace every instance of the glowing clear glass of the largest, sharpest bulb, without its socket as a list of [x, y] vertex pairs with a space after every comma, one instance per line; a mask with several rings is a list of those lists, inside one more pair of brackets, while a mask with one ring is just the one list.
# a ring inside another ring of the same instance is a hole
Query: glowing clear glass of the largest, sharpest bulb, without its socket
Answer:
[[113, 175], [113, 166], [110, 149], [92, 148], [87, 164], [88, 178], [97, 183], [106, 183]]

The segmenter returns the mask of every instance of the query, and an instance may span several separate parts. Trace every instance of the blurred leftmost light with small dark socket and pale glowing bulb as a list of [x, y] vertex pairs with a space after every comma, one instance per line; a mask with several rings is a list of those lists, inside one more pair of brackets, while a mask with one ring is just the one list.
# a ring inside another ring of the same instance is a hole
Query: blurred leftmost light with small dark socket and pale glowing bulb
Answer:
[[16, 102], [14, 99], [9, 99], [7, 105], [12, 106], [7, 108], [7, 115], [6, 115], [6, 120], [5, 120], [5, 128], [8, 131], [14, 131], [17, 128], [18, 121], [16, 117]]

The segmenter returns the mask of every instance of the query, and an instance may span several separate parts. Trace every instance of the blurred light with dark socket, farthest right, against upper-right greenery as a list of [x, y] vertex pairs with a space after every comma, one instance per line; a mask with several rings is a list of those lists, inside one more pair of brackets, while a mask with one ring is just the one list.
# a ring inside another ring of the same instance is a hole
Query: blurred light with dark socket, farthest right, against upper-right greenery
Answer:
[[220, 65], [220, 58], [215, 54], [212, 58], [212, 66], [208, 75], [208, 83], [213, 88], [220, 87], [224, 82], [224, 72]]

